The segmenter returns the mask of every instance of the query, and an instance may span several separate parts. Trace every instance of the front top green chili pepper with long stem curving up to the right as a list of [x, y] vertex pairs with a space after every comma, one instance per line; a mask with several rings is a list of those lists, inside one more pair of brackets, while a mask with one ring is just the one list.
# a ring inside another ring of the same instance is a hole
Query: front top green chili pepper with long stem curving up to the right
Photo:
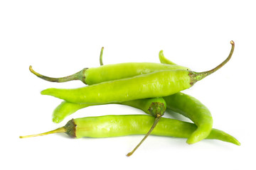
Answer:
[[132, 101], [139, 98], [169, 96], [190, 88], [199, 81], [223, 67], [233, 55], [234, 42], [228, 58], [207, 72], [189, 70], [168, 70], [142, 74], [127, 79], [105, 81], [78, 89], [46, 89], [43, 95], [55, 96], [71, 103], [112, 103]]

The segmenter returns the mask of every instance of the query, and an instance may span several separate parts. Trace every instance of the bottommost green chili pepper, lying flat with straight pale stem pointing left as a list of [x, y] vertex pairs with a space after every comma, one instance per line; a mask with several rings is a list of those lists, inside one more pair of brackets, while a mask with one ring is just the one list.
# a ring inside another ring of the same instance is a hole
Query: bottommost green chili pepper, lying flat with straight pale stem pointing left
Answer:
[[[36, 137], [52, 133], [65, 132], [70, 137], [119, 137], [126, 135], [144, 135], [154, 123], [154, 118], [149, 115], [104, 115], [97, 117], [77, 118], [68, 121], [68, 123], [56, 130], [44, 132], [38, 135], [27, 135], [25, 137]], [[190, 137], [196, 130], [193, 123], [183, 122], [170, 118], [161, 118], [152, 135], [169, 137]], [[216, 139], [225, 142], [231, 142], [240, 145], [235, 137], [227, 133], [212, 129], [206, 139]]]

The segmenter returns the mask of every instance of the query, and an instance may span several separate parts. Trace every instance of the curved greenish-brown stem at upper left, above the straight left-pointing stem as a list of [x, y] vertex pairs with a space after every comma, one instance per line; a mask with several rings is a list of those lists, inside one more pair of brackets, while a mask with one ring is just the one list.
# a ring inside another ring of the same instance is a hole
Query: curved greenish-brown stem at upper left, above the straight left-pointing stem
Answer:
[[82, 69], [80, 72], [77, 72], [75, 74], [72, 74], [70, 76], [67, 77], [59, 77], [59, 78], [53, 78], [53, 77], [46, 77], [43, 76], [42, 74], [39, 74], [38, 72], [35, 72], [32, 69], [32, 66], [29, 66], [29, 70], [31, 71], [31, 73], [35, 74], [37, 77], [44, 79], [46, 81], [51, 81], [51, 82], [58, 82], [58, 83], [63, 83], [63, 82], [67, 82], [67, 81], [72, 81], [72, 80], [80, 80], [83, 83], [85, 83], [85, 75], [84, 72], [87, 68]]

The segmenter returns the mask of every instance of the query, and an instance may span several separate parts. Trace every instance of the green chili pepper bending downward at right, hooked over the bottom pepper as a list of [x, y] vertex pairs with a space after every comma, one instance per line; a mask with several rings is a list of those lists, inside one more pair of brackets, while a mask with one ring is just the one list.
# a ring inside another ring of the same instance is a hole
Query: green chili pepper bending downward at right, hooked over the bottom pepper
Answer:
[[192, 96], [181, 92], [164, 97], [167, 108], [191, 119], [197, 125], [195, 132], [188, 137], [188, 144], [196, 143], [208, 137], [213, 128], [213, 117], [206, 106]]

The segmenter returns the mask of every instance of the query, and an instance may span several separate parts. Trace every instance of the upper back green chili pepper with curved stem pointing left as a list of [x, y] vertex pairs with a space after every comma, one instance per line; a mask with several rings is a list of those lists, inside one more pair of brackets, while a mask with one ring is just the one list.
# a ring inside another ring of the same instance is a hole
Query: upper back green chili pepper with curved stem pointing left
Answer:
[[[101, 60], [101, 64], [102, 60]], [[186, 67], [170, 64], [159, 64], [151, 62], [127, 62], [120, 64], [107, 64], [101, 67], [85, 68], [80, 72], [70, 75], [68, 77], [46, 77], [38, 72], [35, 72], [32, 67], [30, 71], [37, 77], [46, 81], [52, 82], [66, 82], [72, 80], [80, 80], [84, 84], [98, 84], [108, 80], [122, 79], [122, 77], [134, 77], [140, 74], [148, 74], [159, 70], [172, 70], [172, 69], [187, 69]]]

